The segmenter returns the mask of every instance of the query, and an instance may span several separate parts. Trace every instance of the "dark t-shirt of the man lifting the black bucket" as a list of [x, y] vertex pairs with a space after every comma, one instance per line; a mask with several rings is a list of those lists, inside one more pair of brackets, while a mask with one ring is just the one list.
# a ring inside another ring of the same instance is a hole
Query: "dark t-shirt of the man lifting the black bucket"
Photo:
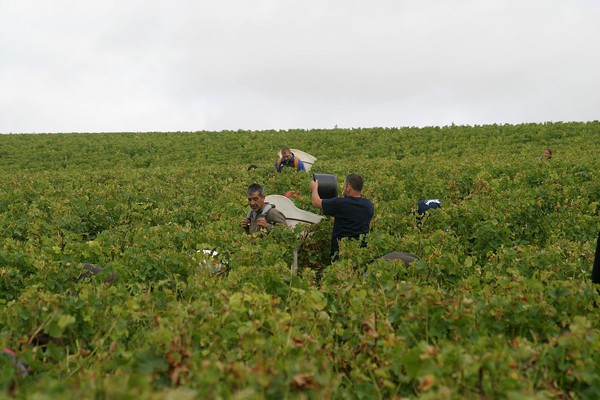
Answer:
[[[358, 239], [369, 233], [369, 224], [373, 217], [374, 207], [371, 200], [364, 197], [334, 197], [323, 199], [323, 214], [334, 217], [331, 234], [331, 255], [339, 250], [341, 238]], [[363, 242], [363, 245], [366, 243]]]

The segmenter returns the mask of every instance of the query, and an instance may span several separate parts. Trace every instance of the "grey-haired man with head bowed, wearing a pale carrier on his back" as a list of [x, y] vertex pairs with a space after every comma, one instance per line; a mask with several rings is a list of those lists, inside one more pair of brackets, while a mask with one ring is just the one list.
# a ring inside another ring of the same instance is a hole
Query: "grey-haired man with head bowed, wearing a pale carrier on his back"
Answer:
[[250, 211], [242, 220], [246, 233], [271, 232], [275, 225], [285, 225], [285, 216], [273, 204], [265, 202], [265, 188], [258, 183], [248, 186], [246, 191]]

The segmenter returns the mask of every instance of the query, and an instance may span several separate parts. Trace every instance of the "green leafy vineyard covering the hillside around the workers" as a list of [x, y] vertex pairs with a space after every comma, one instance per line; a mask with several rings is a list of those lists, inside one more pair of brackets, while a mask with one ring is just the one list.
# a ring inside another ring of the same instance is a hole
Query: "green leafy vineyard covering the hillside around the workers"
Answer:
[[[320, 213], [285, 145], [362, 175], [366, 248], [244, 233], [253, 182]], [[600, 398], [599, 154], [599, 122], [0, 135], [0, 398]]]

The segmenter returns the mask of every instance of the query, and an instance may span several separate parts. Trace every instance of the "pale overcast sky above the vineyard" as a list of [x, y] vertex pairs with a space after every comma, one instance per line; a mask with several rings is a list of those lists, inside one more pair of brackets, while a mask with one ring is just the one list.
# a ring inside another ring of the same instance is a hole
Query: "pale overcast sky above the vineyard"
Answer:
[[0, 132], [600, 119], [598, 0], [0, 0]]

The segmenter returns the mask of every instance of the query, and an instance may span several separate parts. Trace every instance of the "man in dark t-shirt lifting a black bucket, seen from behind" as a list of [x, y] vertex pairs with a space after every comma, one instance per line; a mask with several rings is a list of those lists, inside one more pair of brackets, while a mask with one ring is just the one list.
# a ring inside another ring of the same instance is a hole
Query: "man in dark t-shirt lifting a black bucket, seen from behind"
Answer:
[[[342, 238], [358, 239], [360, 235], [369, 233], [369, 224], [373, 217], [374, 207], [370, 200], [362, 197], [363, 179], [358, 174], [349, 174], [344, 180], [344, 197], [321, 199], [319, 181], [309, 183], [313, 206], [321, 208], [323, 214], [334, 217], [331, 234], [331, 257], [335, 261]], [[367, 245], [364, 236], [361, 247]]]

